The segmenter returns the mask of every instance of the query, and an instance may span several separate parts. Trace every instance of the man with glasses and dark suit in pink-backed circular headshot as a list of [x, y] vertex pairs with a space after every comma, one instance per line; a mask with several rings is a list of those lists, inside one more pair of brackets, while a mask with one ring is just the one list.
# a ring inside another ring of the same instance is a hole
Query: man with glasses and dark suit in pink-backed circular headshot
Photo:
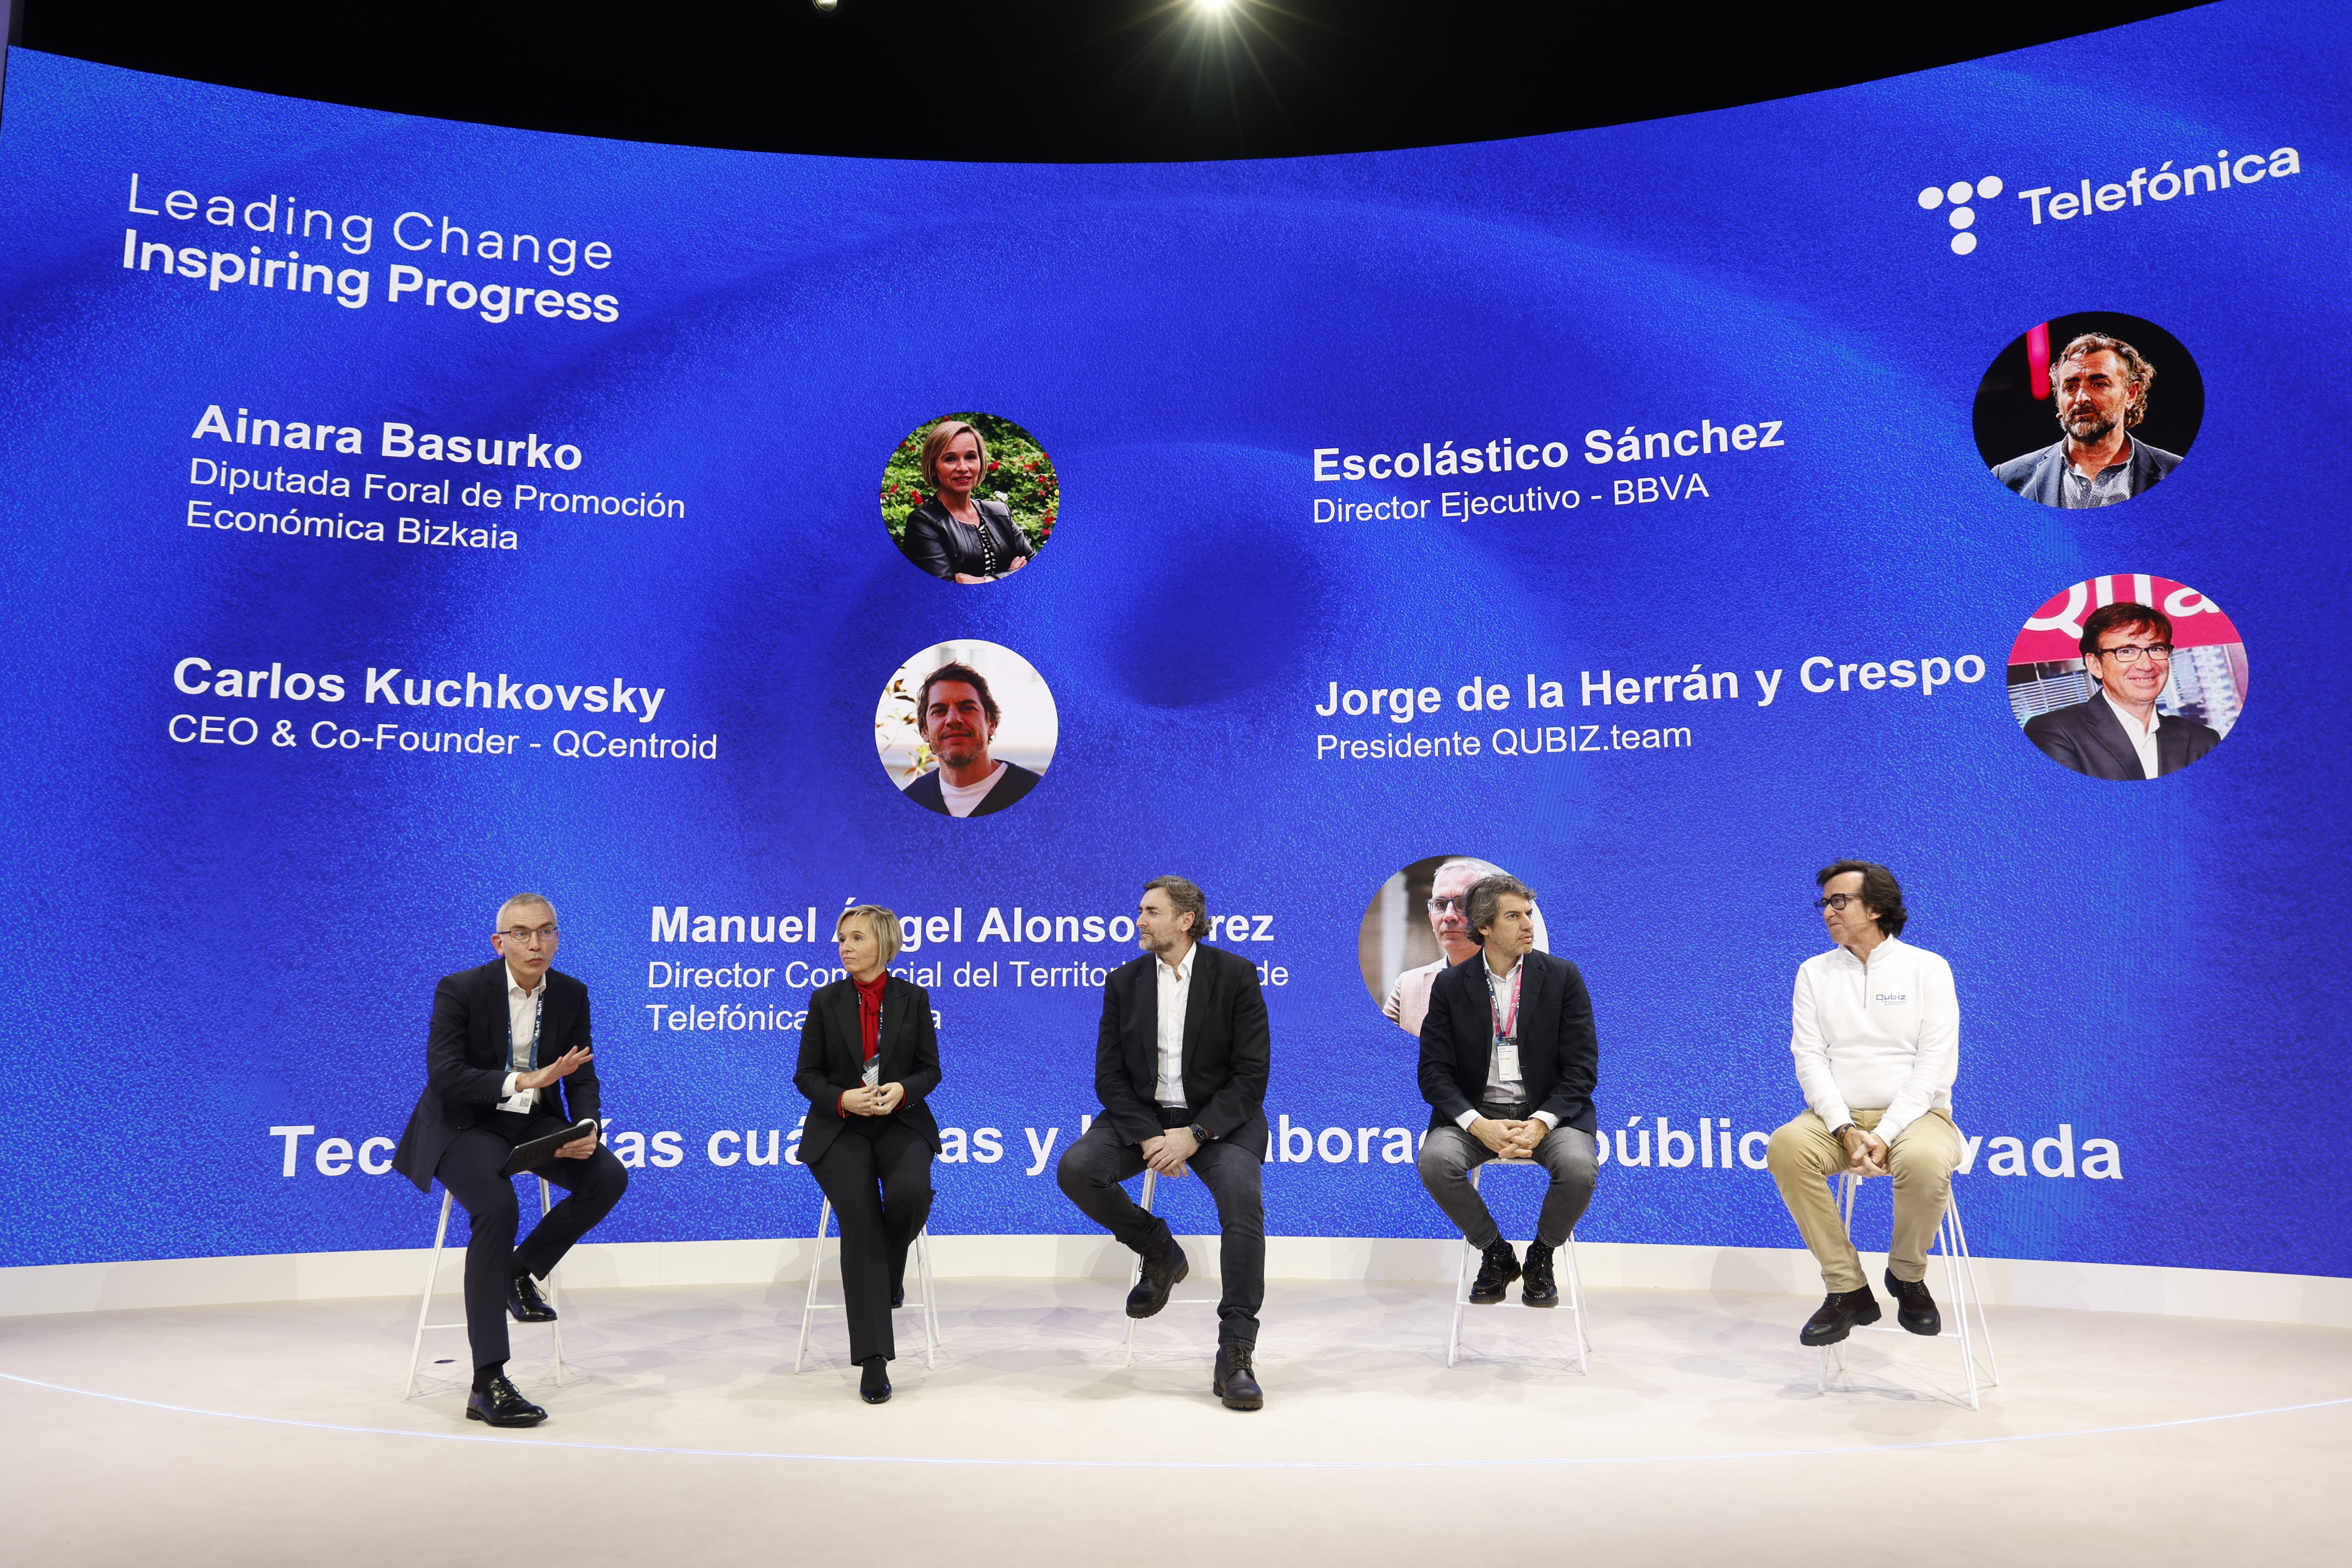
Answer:
[[2161, 778], [2216, 745], [2220, 731], [2157, 696], [2173, 675], [2173, 623], [2145, 604], [2107, 604], [2082, 623], [2082, 663], [2098, 693], [2089, 703], [2025, 719], [2025, 738], [2060, 766], [2091, 778]]

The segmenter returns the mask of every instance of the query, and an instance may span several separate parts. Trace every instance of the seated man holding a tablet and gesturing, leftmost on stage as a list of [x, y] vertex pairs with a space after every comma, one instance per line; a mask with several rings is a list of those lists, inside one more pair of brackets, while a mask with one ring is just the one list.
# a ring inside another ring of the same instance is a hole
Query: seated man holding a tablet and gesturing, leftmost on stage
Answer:
[[555, 1321], [534, 1276], [546, 1279], [628, 1192], [621, 1161], [593, 1131], [583, 1133], [536, 1168], [567, 1197], [515, 1246], [522, 1211], [513, 1178], [499, 1171], [515, 1145], [595, 1119], [600, 1103], [588, 987], [553, 969], [555, 936], [555, 905], [539, 893], [515, 893], [499, 905], [489, 936], [499, 959], [442, 976], [433, 987], [426, 1091], [393, 1150], [393, 1168], [419, 1192], [430, 1192], [437, 1175], [473, 1220], [466, 1420], [492, 1427], [536, 1427], [548, 1418], [506, 1380], [506, 1314], [522, 1324]]

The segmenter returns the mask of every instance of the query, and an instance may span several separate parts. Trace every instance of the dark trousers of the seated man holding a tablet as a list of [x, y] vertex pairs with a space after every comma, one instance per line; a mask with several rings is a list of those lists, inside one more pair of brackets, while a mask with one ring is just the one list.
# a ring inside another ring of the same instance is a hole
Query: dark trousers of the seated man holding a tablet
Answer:
[[506, 1361], [506, 1291], [515, 1269], [546, 1279], [572, 1244], [628, 1192], [628, 1166], [602, 1143], [588, 1159], [550, 1159], [539, 1175], [562, 1187], [564, 1201], [532, 1227], [520, 1248], [515, 1246], [522, 1206], [515, 1201], [513, 1178], [499, 1175], [499, 1166], [517, 1143], [560, 1133], [564, 1126], [562, 1117], [492, 1112], [489, 1121], [456, 1135], [435, 1171], [473, 1220], [473, 1237], [466, 1241], [466, 1340], [473, 1345], [477, 1368]]

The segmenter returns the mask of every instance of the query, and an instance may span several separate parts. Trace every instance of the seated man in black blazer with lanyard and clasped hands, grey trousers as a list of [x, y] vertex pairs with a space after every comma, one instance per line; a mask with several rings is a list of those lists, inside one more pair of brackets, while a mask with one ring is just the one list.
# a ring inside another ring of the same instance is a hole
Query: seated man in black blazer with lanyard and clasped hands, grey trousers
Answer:
[[1536, 896], [1517, 877], [1484, 877], [1470, 889], [1470, 929], [1479, 957], [1437, 976], [1421, 1020], [1421, 1098], [1435, 1107], [1421, 1140], [1421, 1185], [1484, 1253], [1470, 1300], [1486, 1307], [1522, 1269], [1470, 1185], [1470, 1168], [1489, 1159], [1541, 1161], [1552, 1185], [1526, 1246], [1519, 1300], [1557, 1307], [1552, 1251], [1576, 1232], [1599, 1168], [1592, 997], [1576, 964], [1536, 952]]

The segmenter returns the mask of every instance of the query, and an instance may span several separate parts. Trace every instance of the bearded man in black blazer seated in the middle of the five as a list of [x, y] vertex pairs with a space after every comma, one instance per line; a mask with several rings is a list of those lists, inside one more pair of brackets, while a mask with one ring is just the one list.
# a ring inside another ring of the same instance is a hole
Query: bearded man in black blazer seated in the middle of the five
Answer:
[[1209, 1389], [1230, 1410], [1265, 1403], [1254, 1368], [1265, 1302], [1265, 992], [1249, 959], [1202, 947], [1209, 900], [1183, 877], [1152, 877], [1136, 905], [1143, 957], [1103, 983], [1094, 1088], [1103, 1114], [1063, 1152], [1056, 1180], [1087, 1218], [1143, 1258], [1127, 1316], [1160, 1312], [1190, 1272], [1167, 1220], [1120, 1182], [1145, 1166], [1162, 1180], [1197, 1168], [1216, 1199], [1225, 1274]]

